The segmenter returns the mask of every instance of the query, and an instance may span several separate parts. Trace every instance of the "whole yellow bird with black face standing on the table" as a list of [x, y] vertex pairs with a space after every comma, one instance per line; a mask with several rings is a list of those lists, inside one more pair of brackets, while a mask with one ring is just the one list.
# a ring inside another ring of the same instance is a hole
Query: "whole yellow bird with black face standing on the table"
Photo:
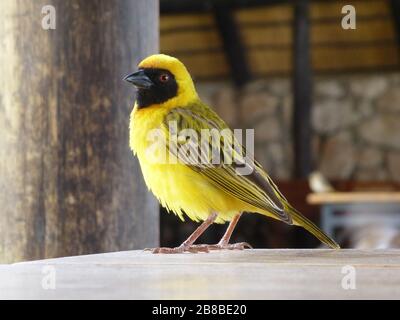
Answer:
[[[178, 59], [164, 54], [149, 56], [124, 80], [138, 89], [130, 119], [130, 147], [148, 188], [182, 220], [186, 214], [203, 221], [180, 246], [155, 248], [153, 253], [250, 247], [245, 242], [229, 243], [242, 212], [302, 226], [328, 246], [339, 248], [288, 203], [258, 162], [244, 161], [250, 159], [249, 154], [225, 122], [200, 100], [189, 72]], [[221, 132], [225, 134], [213, 140]], [[211, 151], [206, 152], [207, 148]], [[240, 167], [249, 170], [241, 174]], [[194, 244], [211, 224], [226, 221], [230, 223], [219, 243]]]

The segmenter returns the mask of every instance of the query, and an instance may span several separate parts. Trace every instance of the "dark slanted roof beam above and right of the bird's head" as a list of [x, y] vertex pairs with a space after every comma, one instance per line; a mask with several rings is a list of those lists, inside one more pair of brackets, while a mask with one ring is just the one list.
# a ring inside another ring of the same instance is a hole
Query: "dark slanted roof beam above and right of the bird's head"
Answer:
[[222, 39], [231, 78], [235, 85], [242, 86], [251, 78], [245, 49], [232, 10], [225, 6], [214, 7], [215, 23]]

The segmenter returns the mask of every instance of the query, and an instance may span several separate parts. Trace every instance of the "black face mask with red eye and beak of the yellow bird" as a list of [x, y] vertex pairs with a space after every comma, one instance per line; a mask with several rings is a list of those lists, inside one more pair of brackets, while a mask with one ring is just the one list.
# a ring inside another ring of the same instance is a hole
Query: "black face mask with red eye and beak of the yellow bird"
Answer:
[[178, 93], [178, 84], [174, 75], [164, 69], [140, 69], [126, 76], [124, 80], [138, 88], [139, 108], [166, 102]]

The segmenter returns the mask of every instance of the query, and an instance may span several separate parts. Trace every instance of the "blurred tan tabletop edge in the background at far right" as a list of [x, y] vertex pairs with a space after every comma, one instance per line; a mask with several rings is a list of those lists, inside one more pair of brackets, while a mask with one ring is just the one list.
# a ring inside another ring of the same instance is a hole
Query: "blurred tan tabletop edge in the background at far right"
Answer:
[[315, 205], [338, 203], [399, 203], [400, 192], [321, 192], [310, 193], [307, 202]]

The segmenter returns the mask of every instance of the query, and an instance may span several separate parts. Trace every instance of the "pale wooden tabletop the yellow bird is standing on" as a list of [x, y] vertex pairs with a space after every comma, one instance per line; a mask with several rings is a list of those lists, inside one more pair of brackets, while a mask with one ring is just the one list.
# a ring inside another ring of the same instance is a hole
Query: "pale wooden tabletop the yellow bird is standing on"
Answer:
[[[346, 286], [352, 275], [355, 289]], [[400, 299], [400, 250], [125, 251], [24, 262], [0, 265], [0, 298]]]

